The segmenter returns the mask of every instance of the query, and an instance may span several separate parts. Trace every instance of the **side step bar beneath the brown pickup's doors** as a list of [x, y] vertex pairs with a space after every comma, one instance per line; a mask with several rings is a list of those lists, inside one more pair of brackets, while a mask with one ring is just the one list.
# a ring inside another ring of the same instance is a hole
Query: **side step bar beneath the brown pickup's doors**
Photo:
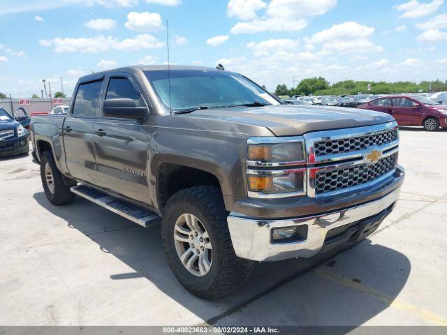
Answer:
[[156, 225], [161, 219], [160, 216], [152, 211], [140, 209], [140, 207], [129, 204], [129, 202], [117, 199], [85, 185], [72, 186], [70, 191], [145, 228]]

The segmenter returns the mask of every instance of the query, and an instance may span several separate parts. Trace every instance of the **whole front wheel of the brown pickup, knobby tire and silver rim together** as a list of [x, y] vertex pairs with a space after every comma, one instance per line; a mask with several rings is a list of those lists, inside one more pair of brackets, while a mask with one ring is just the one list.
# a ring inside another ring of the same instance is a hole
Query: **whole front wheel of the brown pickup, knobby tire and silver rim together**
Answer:
[[237, 258], [219, 188], [197, 186], [175, 193], [163, 211], [161, 235], [168, 263], [194, 295], [217, 299], [240, 287], [253, 262]]

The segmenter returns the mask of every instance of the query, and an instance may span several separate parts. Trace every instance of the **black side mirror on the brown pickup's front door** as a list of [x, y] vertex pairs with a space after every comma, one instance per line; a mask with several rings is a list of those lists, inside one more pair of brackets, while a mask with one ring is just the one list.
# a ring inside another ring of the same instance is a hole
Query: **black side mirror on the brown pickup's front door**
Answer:
[[129, 98], [107, 99], [103, 103], [103, 115], [143, 121], [147, 117], [147, 107], [137, 107], [135, 101]]

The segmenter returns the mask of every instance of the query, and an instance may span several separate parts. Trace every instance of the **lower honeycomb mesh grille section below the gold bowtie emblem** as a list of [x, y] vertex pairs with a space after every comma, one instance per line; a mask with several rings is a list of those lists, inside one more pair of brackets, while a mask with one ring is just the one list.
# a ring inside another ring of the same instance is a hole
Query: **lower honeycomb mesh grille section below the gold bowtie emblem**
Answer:
[[319, 170], [315, 177], [315, 193], [322, 194], [344, 190], [370, 181], [394, 170], [397, 154], [387, 156], [376, 163], [362, 163], [333, 170]]

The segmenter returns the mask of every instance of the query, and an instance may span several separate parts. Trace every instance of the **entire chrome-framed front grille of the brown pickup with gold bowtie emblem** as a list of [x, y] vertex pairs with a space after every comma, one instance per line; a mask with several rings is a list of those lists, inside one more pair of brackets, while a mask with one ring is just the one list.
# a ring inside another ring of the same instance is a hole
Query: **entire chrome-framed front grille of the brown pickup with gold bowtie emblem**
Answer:
[[304, 135], [307, 195], [323, 197], [373, 186], [397, 165], [397, 123]]

